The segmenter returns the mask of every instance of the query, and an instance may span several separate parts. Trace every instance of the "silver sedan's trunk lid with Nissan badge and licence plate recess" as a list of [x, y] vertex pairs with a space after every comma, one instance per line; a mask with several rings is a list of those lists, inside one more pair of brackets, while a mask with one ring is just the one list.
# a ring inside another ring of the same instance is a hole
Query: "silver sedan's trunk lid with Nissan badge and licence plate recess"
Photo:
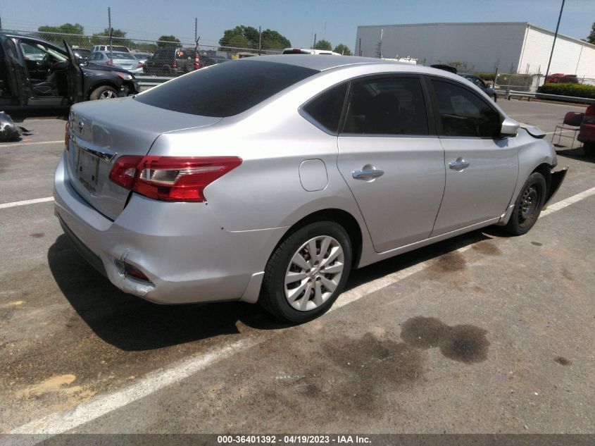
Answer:
[[160, 109], [132, 98], [77, 104], [69, 118], [70, 182], [97, 211], [115, 220], [131, 193], [109, 179], [119, 156], [146, 155], [163, 132], [200, 128], [219, 120]]

